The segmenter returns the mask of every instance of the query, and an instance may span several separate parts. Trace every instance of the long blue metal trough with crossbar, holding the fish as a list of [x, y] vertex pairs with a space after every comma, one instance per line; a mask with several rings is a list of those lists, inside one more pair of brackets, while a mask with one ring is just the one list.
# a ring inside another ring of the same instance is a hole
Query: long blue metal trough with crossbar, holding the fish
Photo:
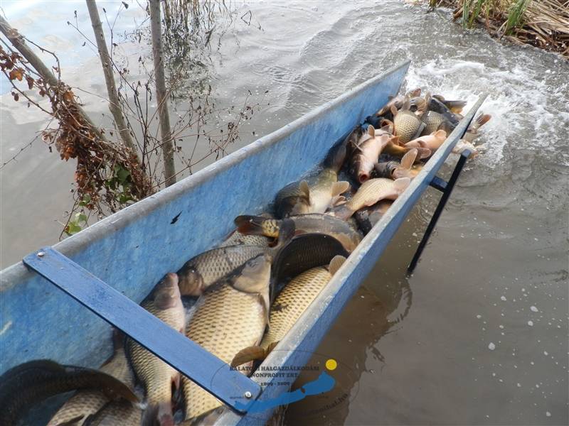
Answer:
[[[289, 391], [290, 383], [248, 378], [231, 370], [138, 303], [165, 273], [177, 271], [188, 258], [218, 244], [233, 229], [233, 218], [262, 212], [281, 187], [314, 170], [336, 141], [399, 91], [408, 67], [405, 62], [363, 82], [176, 185], [1, 271], [0, 373], [33, 359], [98, 366], [110, 354], [112, 324], [226, 403], [229, 407], [219, 424], [258, 425], [266, 420], [273, 408], [251, 415], [252, 403], [275, 400]], [[443, 195], [425, 236], [430, 234], [468, 153], [459, 159], [449, 182], [435, 174], [482, 101], [468, 111], [410, 187], [351, 253], [277, 346], [282, 350], [272, 351], [265, 359], [264, 368], [279, 370], [307, 363], [410, 209], [431, 185]], [[426, 238], [422, 246], [425, 242]]]

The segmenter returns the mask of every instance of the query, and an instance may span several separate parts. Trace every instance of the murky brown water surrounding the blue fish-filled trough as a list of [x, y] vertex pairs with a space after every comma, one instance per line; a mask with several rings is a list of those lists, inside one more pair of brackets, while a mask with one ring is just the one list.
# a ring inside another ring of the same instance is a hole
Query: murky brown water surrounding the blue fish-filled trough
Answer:
[[[78, 9], [90, 29], [83, 4], [45, 5], [15, 11], [3, 2], [16, 28], [67, 54], [66, 81], [102, 92], [96, 58], [65, 26]], [[324, 396], [307, 398], [289, 407], [287, 424], [567, 425], [568, 62], [482, 31], [465, 34], [447, 16], [400, 1], [238, 7], [251, 9], [262, 30], [235, 23], [212, 53], [212, 85], [221, 104], [269, 89], [270, 106], [233, 149], [252, 141], [253, 130], [278, 129], [406, 58], [408, 86], [471, 101], [488, 91], [482, 109], [493, 115], [488, 149], [467, 165], [413, 277], [405, 267], [435, 191], [322, 342], [319, 353], [353, 371], [340, 383], [349, 398], [317, 415], [308, 408]], [[129, 13], [137, 16], [134, 7]], [[2, 163], [43, 123], [8, 98], [0, 105]], [[96, 97], [82, 98], [89, 111], [105, 111]], [[39, 141], [0, 172], [2, 266], [60, 233], [55, 219], [70, 203], [73, 165], [55, 155]]]

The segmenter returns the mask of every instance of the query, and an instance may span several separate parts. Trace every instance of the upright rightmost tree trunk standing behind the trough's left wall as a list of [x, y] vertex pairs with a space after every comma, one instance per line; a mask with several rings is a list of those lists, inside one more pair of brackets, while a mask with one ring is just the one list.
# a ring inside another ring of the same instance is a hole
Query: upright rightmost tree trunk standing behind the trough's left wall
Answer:
[[160, 119], [160, 136], [162, 155], [164, 157], [164, 178], [166, 186], [176, 183], [174, 169], [174, 144], [171, 140], [170, 117], [166, 99], [166, 81], [164, 79], [164, 62], [162, 62], [162, 31], [160, 23], [160, 1], [149, 0], [150, 28], [152, 35], [152, 57], [154, 58], [154, 80], [156, 81], [156, 98]]

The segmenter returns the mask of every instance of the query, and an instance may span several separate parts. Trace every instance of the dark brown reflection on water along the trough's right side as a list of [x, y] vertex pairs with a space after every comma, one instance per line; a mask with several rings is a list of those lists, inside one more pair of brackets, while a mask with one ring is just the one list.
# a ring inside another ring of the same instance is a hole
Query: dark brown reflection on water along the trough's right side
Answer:
[[[368, 374], [380, 380], [383, 367], [396, 361], [396, 358], [386, 357], [377, 344], [386, 334], [403, 327], [405, 317], [413, 310], [413, 293], [405, 272], [407, 262], [413, 256], [416, 239], [413, 226], [420, 222], [417, 211], [415, 209], [410, 214], [411, 220], [401, 226], [369, 274], [368, 285], [358, 289], [318, 348], [319, 354], [326, 354], [341, 362], [336, 371], [338, 384], [334, 392], [289, 405], [285, 424], [344, 424], [351, 407], [361, 398], [359, 394], [368, 392], [360, 385], [362, 375]], [[318, 356], [314, 356], [309, 365], [315, 364], [318, 359]], [[370, 360], [373, 360], [373, 366], [369, 365]], [[349, 368], [349, 373], [340, 371], [342, 368]], [[314, 380], [317, 373], [303, 372], [295, 386]], [[315, 407], [331, 408], [314, 410]]]

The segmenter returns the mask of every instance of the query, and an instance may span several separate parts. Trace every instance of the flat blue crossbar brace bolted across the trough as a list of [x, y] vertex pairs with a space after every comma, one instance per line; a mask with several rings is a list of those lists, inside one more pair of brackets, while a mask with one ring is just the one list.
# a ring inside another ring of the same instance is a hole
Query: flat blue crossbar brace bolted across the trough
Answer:
[[[23, 263], [234, 410], [246, 413], [260, 395], [259, 384], [59, 251], [46, 247], [23, 258]], [[245, 409], [238, 410], [237, 403]]]

